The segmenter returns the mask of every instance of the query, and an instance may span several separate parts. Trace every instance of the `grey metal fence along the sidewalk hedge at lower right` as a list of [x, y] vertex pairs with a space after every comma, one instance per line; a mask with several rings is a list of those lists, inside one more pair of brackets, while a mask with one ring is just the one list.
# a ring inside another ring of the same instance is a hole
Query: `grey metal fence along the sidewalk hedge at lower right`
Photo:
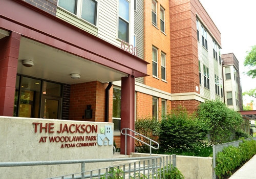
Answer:
[[[254, 140], [256, 141], [256, 137], [253, 138], [247, 138], [245, 139], [246, 141], [250, 141], [250, 140]], [[213, 152], [213, 156], [212, 156], [212, 165], [214, 167], [214, 175], [213, 175], [213, 179], [216, 179], [216, 174], [215, 174], [215, 167], [216, 167], [216, 156], [218, 152], [221, 152], [223, 150], [223, 148], [226, 148], [230, 145], [234, 146], [234, 147], [238, 147], [240, 143], [243, 143], [243, 140], [239, 140], [239, 141], [233, 141], [233, 142], [228, 142], [225, 144], [218, 144], [218, 145], [213, 145], [212, 146], [212, 152]]]

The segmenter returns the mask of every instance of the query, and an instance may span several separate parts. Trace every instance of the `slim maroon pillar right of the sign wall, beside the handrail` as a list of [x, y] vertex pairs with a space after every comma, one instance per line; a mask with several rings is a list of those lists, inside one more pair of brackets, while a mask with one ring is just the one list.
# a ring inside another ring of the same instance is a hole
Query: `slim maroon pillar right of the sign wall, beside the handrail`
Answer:
[[[135, 115], [135, 78], [129, 75], [121, 80], [121, 129], [134, 130]], [[124, 132], [124, 131], [123, 131]], [[128, 132], [127, 132], [128, 133]], [[130, 133], [130, 132], [129, 132]], [[134, 133], [130, 133], [134, 136]], [[127, 137], [127, 154], [134, 152], [134, 139]], [[125, 154], [125, 136], [121, 135], [121, 154]]]

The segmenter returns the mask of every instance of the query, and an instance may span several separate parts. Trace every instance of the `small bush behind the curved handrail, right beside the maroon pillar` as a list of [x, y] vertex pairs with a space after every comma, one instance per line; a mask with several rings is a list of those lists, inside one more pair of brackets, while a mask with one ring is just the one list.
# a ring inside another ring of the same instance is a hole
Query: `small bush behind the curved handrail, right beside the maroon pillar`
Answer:
[[[146, 118], [137, 119], [135, 121], [135, 131], [154, 141], [158, 140], [159, 128], [160, 128], [160, 123], [154, 118], [146, 117]], [[137, 136], [137, 139], [147, 144], [150, 144], [149, 140], [139, 135]], [[148, 147], [147, 145], [137, 140], [135, 140], [135, 147], [138, 147], [138, 151], [142, 153], [150, 151], [150, 147]]]

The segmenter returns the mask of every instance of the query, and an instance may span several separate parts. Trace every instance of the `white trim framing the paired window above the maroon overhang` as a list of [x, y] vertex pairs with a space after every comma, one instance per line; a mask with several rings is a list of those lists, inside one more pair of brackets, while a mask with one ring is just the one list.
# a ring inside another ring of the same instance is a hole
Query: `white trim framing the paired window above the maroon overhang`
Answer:
[[76, 7], [77, 14], [74, 14], [73, 12], [70, 12], [67, 9], [62, 8], [61, 6], [59, 6], [59, 0], [58, 0], [58, 3], [57, 3], [57, 7], [62, 9], [63, 11], [66, 11], [67, 13], [79, 18], [84, 23], [87, 23], [87, 24], [89, 24], [93, 27], [98, 28], [98, 26], [99, 26], [99, 0], [94, 0], [94, 1], [97, 2], [97, 12], [96, 12], [97, 14], [96, 14], [96, 17], [95, 17], [96, 18], [96, 25], [94, 25], [94, 24], [90, 23], [89, 21], [87, 21], [86, 19], [82, 18], [82, 0], [77, 0], [77, 7]]

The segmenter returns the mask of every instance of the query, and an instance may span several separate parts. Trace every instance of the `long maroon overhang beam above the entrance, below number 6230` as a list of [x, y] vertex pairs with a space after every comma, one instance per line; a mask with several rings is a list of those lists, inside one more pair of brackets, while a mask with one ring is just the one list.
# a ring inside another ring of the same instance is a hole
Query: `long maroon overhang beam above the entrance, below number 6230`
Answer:
[[0, 28], [117, 71], [148, 76], [148, 62], [24, 1], [0, 0]]

